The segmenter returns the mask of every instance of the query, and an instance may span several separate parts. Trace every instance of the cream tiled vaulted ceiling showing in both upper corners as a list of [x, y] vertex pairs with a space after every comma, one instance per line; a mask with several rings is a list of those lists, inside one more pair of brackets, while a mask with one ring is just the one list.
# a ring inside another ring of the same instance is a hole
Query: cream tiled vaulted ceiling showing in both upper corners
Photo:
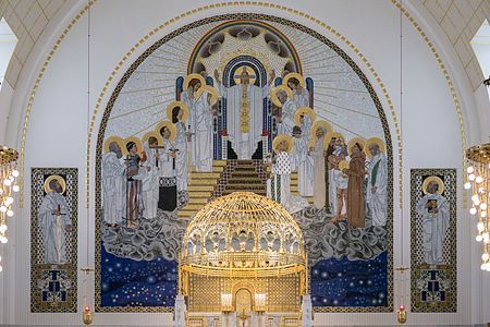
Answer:
[[[421, 4], [416, 7], [427, 10], [434, 22], [440, 25], [454, 47], [473, 88], [478, 88], [482, 81], [482, 73], [469, 41], [483, 20], [490, 21], [490, 1], [412, 0], [412, 2]], [[78, 3], [79, 1], [76, 0], [0, 1], [0, 17], [5, 19], [19, 38], [5, 74], [5, 80], [13, 88], [15, 88], [22, 68], [32, 49], [49, 23], [53, 21], [62, 7], [65, 7], [63, 13], [70, 13], [70, 9]], [[63, 17], [57, 19], [61, 21]]]

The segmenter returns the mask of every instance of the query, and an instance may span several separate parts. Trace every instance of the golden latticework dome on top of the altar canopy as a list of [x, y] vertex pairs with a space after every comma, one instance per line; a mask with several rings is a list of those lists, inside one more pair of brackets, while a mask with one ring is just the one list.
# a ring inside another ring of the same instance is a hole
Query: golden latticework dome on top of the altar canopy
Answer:
[[277, 276], [305, 269], [298, 225], [278, 203], [248, 192], [199, 210], [184, 237], [185, 270], [208, 276]]

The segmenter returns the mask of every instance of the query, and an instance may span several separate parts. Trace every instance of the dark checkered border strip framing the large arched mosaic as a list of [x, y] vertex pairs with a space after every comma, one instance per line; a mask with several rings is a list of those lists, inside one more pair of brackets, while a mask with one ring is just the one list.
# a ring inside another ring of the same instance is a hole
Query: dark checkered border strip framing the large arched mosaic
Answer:
[[380, 121], [383, 128], [384, 132], [384, 141], [387, 144], [387, 157], [388, 157], [388, 213], [387, 213], [387, 247], [388, 247], [388, 305], [387, 306], [363, 306], [363, 307], [356, 307], [356, 306], [344, 306], [344, 307], [314, 307], [315, 312], [341, 312], [341, 313], [351, 313], [351, 312], [359, 312], [359, 313], [380, 313], [380, 312], [392, 312], [393, 311], [393, 146], [392, 146], [392, 140], [390, 134], [390, 129], [387, 120], [387, 116], [383, 111], [381, 101], [379, 100], [373, 87], [369, 83], [369, 80], [364, 74], [364, 72], [359, 69], [359, 66], [348, 57], [347, 53], [345, 53], [339, 46], [336, 46], [333, 41], [331, 41], [326, 36], [321, 35], [320, 33], [308, 28], [302, 24], [298, 24], [296, 22], [285, 20], [282, 17], [273, 16], [273, 15], [267, 15], [267, 14], [257, 14], [257, 13], [231, 13], [231, 14], [222, 14], [222, 15], [215, 15], [206, 19], [201, 19], [198, 21], [195, 21], [191, 24], [187, 24], [183, 27], [180, 27], [172, 33], [166, 35], [163, 38], [156, 41], [154, 45], [151, 45], [143, 55], [140, 55], [127, 69], [127, 71], [124, 73], [122, 78], [119, 81], [118, 85], [115, 86], [115, 89], [113, 90], [108, 105], [106, 107], [106, 110], [103, 112], [100, 128], [98, 132], [97, 137], [97, 148], [96, 148], [96, 167], [95, 167], [95, 198], [96, 201], [96, 258], [95, 258], [95, 267], [96, 267], [96, 275], [95, 275], [95, 308], [97, 312], [173, 312], [173, 307], [125, 307], [125, 306], [101, 306], [101, 257], [100, 257], [100, 251], [97, 251], [101, 246], [101, 234], [100, 234], [100, 223], [101, 223], [101, 155], [102, 155], [102, 148], [103, 148], [103, 135], [106, 133], [107, 123], [109, 120], [109, 117], [111, 114], [112, 108], [114, 106], [115, 99], [118, 98], [121, 89], [123, 88], [126, 81], [130, 78], [130, 76], [133, 74], [133, 72], [138, 68], [138, 65], [148, 57], [150, 56], [156, 49], [158, 49], [160, 46], [169, 41], [170, 39], [189, 31], [195, 27], [213, 23], [213, 22], [223, 22], [223, 21], [232, 21], [232, 20], [238, 20], [238, 21], [249, 21], [249, 20], [262, 20], [262, 21], [269, 21], [274, 23], [280, 23], [293, 28], [297, 28], [301, 32], [304, 32], [321, 43], [326, 44], [328, 47], [330, 47], [333, 51], [335, 51], [345, 62], [353, 69], [353, 71], [357, 74], [357, 76], [360, 78], [363, 84], [365, 85], [366, 89], [369, 92], [369, 96], [371, 97], [377, 110], [378, 114], [380, 117]]

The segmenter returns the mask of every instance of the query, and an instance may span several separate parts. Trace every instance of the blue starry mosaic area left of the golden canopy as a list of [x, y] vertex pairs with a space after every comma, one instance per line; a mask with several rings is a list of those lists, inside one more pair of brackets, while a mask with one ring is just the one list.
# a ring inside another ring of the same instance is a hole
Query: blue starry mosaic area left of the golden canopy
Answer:
[[177, 263], [120, 258], [101, 246], [102, 306], [174, 306]]

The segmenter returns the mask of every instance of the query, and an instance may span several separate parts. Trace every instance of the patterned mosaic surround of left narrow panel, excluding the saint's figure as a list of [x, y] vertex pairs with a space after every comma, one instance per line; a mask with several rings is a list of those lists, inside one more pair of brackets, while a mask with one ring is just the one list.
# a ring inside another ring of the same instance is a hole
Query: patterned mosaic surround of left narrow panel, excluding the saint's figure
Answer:
[[[38, 209], [45, 196], [44, 183], [50, 175], [61, 175], [66, 183], [64, 196], [73, 231], [66, 234], [66, 259], [62, 265], [45, 264]], [[78, 169], [32, 168], [30, 170], [30, 312], [77, 312], [78, 262]], [[42, 288], [42, 289], [41, 289]], [[63, 290], [65, 291], [63, 295]]]

